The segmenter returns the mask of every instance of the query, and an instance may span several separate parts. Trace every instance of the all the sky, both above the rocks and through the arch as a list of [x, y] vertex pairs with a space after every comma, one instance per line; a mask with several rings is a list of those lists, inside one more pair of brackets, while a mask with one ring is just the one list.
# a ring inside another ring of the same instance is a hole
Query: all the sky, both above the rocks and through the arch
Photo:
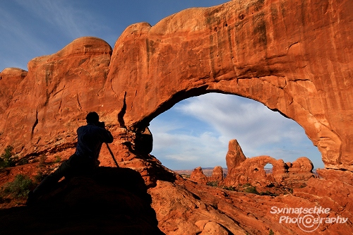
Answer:
[[[0, 4], [0, 71], [27, 70], [28, 61], [53, 54], [78, 37], [94, 36], [112, 47], [128, 25], [158, 21], [209, 0], [78, 1], [13, 0]], [[323, 167], [321, 154], [295, 121], [259, 102], [208, 94], [174, 105], [150, 123], [155, 155], [170, 169], [226, 167], [228, 142], [237, 139], [246, 157], [270, 155], [285, 162], [298, 157]]]

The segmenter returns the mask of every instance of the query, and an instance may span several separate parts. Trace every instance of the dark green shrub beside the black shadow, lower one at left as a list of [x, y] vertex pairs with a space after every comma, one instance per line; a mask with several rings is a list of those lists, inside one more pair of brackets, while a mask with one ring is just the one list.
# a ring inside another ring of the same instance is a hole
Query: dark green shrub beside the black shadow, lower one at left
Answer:
[[12, 182], [6, 183], [4, 193], [10, 194], [13, 198], [27, 198], [32, 188], [33, 182], [30, 177], [18, 174]]

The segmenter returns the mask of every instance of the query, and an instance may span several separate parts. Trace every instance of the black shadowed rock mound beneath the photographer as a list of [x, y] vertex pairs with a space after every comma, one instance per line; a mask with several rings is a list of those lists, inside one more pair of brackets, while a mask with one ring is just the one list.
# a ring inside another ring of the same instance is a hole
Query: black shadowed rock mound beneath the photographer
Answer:
[[163, 234], [133, 169], [99, 167], [62, 181], [29, 207], [0, 210], [0, 234]]

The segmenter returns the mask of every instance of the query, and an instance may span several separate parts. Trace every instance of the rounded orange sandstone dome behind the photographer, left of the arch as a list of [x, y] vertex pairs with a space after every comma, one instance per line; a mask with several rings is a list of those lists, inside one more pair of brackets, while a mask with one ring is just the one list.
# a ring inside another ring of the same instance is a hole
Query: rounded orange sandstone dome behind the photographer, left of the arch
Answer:
[[[76, 128], [85, 123], [85, 111], [104, 106], [100, 92], [107, 79], [112, 48], [98, 38], [83, 37], [49, 56], [32, 59], [28, 73], [18, 73], [8, 107], [1, 113], [1, 147], [40, 154], [73, 147]], [[1, 82], [8, 72], [0, 73]], [[22, 79], [20, 79], [22, 78]], [[8, 90], [1, 85], [1, 91]]]

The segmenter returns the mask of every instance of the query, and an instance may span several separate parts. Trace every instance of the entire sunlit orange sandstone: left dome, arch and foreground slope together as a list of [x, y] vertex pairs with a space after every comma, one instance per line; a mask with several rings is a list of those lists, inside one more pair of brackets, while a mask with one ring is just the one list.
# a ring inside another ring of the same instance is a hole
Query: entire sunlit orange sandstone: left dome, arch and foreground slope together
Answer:
[[[74, 40], [32, 59], [28, 72], [0, 73], [0, 152], [13, 145], [29, 160], [68, 157], [76, 128], [95, 110], [116, 139], [111, 147], [119, 165], [143, 176], [166, 234], [188, 234], [188, 228], [205, 234], [210, 226], [223, 228], [220, 233], [306, 234], [279, 224], [273, 205], [321, 205], [352, 221], [352, 11], [349, 0], [229, 1], [181, 11], [153, 27], [131, 25], [114, 49], [94, 37]], [[216, 192], [181, 181], [145, 147], [133, 148], [155, 116], [208, 92], [248, 97], [297, 121], [322, 153], [324, 178], [277, 198]], [[113, 164], [106, 149], [102, 163]], [[352, 224], [321, 224], [317, 231], [349, 233]]]

